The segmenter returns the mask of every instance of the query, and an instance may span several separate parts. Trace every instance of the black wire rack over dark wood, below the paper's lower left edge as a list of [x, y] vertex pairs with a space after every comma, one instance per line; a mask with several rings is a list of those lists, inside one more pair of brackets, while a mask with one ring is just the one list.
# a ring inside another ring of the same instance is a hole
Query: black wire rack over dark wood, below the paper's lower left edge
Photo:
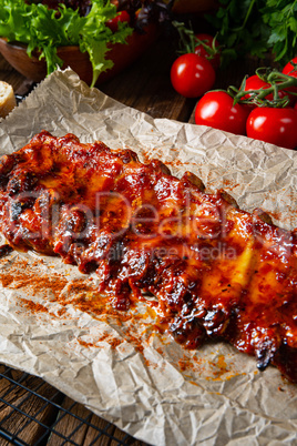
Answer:
[[0, 364], [0, 445], [142, 445], [43, 379]]

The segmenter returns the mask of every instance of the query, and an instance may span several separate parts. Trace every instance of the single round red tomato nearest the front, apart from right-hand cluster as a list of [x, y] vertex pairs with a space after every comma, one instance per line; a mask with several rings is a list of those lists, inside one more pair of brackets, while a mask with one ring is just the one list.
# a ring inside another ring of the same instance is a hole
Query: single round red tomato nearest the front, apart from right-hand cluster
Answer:
[[171, 82], [185, 98], [202, 97], [215, 82], [215, 70], [207, 59], [194, 53], [180, 55], [171, 68]]

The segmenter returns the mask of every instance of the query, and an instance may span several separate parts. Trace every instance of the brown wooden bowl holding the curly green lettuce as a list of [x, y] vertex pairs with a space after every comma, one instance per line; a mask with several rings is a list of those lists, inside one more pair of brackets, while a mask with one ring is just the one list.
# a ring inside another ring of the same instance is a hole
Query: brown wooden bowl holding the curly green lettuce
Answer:
[[[114, 62], [112, 69], [101, 73], [96, 84], [107, 81], [134, 62], [156, 39], [157, 27], [151, 23], [145, 33], [133, 32], [127, 37], [127, 43], [115, 43], [110, 47], [107, 59]], [[8, 42], [0, 38], [0, 52], [3, 58], [21, 74], [34, 82], [40, 82], [47, 75], [44, 59], [39, 60], [39, 53], [33, 52], [29, 58], [27, 45], [19, 42]], [[70, 67], [89, 85], [92, 82], [93, 71], [88, 52], [82, 53], [79, 47], [59, 47], [58, 55], [64, 61], [63, 69]]]

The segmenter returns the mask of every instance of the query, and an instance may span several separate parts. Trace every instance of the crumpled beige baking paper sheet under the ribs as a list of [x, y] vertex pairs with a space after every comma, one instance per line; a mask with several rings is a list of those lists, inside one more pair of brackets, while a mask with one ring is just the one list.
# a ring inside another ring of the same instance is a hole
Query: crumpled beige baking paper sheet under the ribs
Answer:
[[[71, 70], [51, 74], [1, 121], [1, 153], [43, 129], [157, 158], [178, 176], [194, 172], [208, 191], [224, 187], [242, 209], [297, 226], [294, 151], [152, 119], [90, 90]], [[157, 446], [297, 440], [297, 386], [276, 368], [259, 373], [255, 358], [223, 344], [185, 351], [154, 328], [145, 304], [124, 317], [109, 306], [84, 311], [82, 302], [96, 302], [95, 275], [90, 281], [59, 259], [13, 252], [0, 261], [0, 277], [10, 277], [0, 288], [0, 362], [41, 376], [136, 438]], [[49, 280], [60, 287], [40, 290]]]

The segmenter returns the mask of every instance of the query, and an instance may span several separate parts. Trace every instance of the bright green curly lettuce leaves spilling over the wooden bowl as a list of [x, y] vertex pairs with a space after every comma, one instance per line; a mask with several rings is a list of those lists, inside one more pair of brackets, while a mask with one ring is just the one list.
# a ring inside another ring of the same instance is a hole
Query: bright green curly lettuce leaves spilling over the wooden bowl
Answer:
[[24, 0], [0, 0], [0, 36], [8, 41], [28, 45], [31, 57], [34, 50], [44, 58], [48, 74], [63, 61], [57, 54], [61, 45], [79, 45], [88, 51], [93, 68], [92, 87], [103, 71], [113, 67], [106, 58], [110, 43], [125, 43], [133, 29], [126, 22], [120, 22], [115, 32], [106, 22], [116, 16], [116, 7], [110, 0], [92, 0], [86, 16], [80, 9], [68, 8], [62, 2], [51, 9], [40, 2]]

